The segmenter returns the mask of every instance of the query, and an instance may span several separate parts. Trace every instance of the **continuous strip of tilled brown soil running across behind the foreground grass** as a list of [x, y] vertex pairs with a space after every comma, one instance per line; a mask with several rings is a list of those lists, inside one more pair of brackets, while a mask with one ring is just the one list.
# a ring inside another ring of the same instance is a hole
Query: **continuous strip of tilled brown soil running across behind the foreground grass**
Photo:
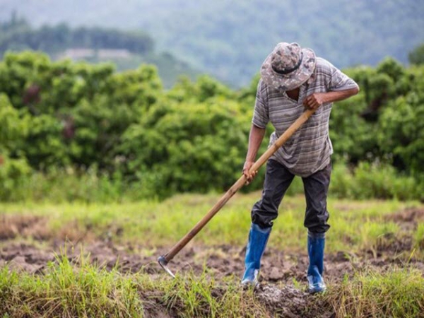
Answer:
[[[157, 258], [167, 249], [161, 248], [153, 253], [143, 254], [142, 247], [132, 245], [114, 245], [111, 242], [78, 243], [54, 242], [47, 247], [10, 243], [0, 247], [0, 266], [8, 264], [12, 269], [42, 273], [49, 261], [57, 257], [66, 257], [73, 264], [81, 262], [81, 254], [91, 264], [107, 270], [117, 269], [122, 273], [148, 273], [152, 276], [164, 274]], [[170, 269], [177, 274], [193, 272], [200, 275], [206, 272], [217, 279], [228, 276], [239, 277], [244, 269], [244, 252], [242, 249], [223, 245], [218, 247], [190, 246], [183, 249], [175, 259], [170, 261]], [[277, 249], [268, 249], [261, 262], [261, 282], [306, 284], [308, 266], [307, 254], [288, 254]], [[326, 254], [325, 276], [331, 281], [340, 281], [344, 276], [352, 276], [360, 269], [373, 268], [382, 270], [387, 266], [416, 266], [424, 268], [420, 259], [403, 261], [398, 256], [384, 254], [370, 257], [369, 254], [354, 255], [338, 252]], [[424, 272], [423, 272], [424, 273]]]

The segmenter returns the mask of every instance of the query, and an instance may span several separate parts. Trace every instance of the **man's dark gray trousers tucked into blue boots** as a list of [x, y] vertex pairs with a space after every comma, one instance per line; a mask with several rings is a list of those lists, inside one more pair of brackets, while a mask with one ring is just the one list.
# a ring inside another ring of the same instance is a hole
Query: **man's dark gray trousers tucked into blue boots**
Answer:
[[[326, 208], [330, 175], [331, 163], [323, 170], [302, 178], [306, 199], [303, 225], [311, 233], [324, 233], [330, 228], [327, 224], [329, 212]], [[278, 206], [294, 177], [295, 175], [281, 163], [272, 159], [268, 160], [262, 198], [252, 208], [252, 223], [256, 223], [261, 228], [271, 228], [273, 220], [278, 216]]]

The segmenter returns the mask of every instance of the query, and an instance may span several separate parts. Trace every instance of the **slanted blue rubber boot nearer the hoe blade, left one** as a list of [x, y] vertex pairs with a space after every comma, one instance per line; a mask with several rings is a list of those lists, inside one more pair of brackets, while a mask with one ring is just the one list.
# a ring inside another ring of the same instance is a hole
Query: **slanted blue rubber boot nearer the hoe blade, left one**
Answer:
[[257, 285], [261, 257], [264, 254], [270, 232], [271, 228], [260, 228], [259, 225], [252, 223], [246, 248], [245, 274], [242, 278], [242, 285]]

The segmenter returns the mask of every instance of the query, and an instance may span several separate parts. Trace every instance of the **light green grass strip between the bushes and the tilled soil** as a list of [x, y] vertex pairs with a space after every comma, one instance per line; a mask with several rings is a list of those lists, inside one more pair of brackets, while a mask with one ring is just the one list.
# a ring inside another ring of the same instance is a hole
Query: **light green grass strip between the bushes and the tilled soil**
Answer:
[[[260, 194], [238, 194], [194, 238], [204, 245], [245, 245], [250, 224], [250, 209]], [[76, 239], [90, 232], [118, 243], [134, 242], [146, 249], [173, 245], [185, 235], [219, 199], [217, 195], [174, 196], [163, 202], [139, 201], [125, 204], [0, 204], [1, 213], [35, 215], [47, 218], [46, 231], [52, 237]], [[329, 199], [327, 251], [375, 249], [381, 237], [399, 232], [398, 225], [386, 216], [417, 202], [349, 201]], [[286, 197], [274, 223], [269, 246], [303, 251], [303, 196]], [[69, 226], [71, 225], [71, 226]], [[236, 230], [235, 230], [236, 229]], [[413, 234], [423, 237], [423, 228]], [[148, 237], [148, 240], [143, 238]], [[418, 240], [418, 239], [417, 239]], [[419, 245], [418, 245], [419, 247]]]

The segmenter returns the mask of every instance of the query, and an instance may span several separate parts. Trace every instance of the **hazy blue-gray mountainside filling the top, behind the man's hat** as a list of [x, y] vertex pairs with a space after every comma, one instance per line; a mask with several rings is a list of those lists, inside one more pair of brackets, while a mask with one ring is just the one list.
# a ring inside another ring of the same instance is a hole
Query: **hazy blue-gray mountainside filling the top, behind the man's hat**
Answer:
[[406, 62], [424, 42], [421, 0], [0, 0], [31, 23], [147, 30], [159, 49], [242, 86], [277, 42], [299, 42], [336, 66]]

